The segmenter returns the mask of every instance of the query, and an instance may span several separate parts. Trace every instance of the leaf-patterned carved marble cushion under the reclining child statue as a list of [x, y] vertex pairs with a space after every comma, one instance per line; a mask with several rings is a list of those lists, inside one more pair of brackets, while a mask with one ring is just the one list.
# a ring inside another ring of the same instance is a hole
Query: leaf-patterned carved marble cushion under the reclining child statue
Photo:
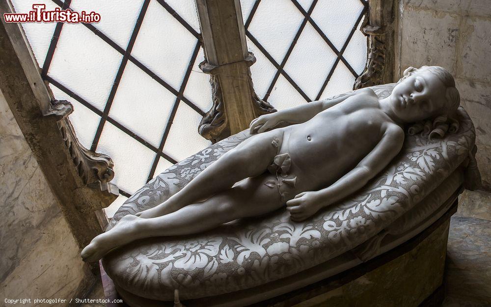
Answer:
[[[395, 84], [372, 87], [387, 97]], [[301, 223], [280, 209], [261, 218], [222, 225], [179, 238], [150, 238], [103, 259], [117, 287], [137, 296], [170, 301], [239, 291], [284, 278], [352, 250], [377, 235], [429, 195], [468, 156], [475, 131], [464, 111], [456, 134], [429, 141], [406, 136], [401, 153], [350, 199]], [[249, 137], [241, 132], [169, 167], [119, 208], [112, 223], [151, 208], [185, 186], [223, 153]]]

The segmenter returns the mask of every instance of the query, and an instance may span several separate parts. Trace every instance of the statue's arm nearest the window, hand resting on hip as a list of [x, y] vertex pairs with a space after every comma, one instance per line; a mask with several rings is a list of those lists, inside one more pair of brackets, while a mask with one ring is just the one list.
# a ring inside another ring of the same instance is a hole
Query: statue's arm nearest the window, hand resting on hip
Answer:
[[[361, 90], [362, 91], [362, 90]], [[262, 133], [273, 129], [279, 123], [288, 124], [300, 124], [311, 119], [318, 113], [337, 105], [348, 97], [351, 97], [360, 91], [349, 92], [346, 94], [339, 95], [332, 99], [323, 99], [312, 101], [301, 106], [285, 109], [282, 111], [264, 114], [254, 119], [250, 123], [249, 132], [250, 134]]]

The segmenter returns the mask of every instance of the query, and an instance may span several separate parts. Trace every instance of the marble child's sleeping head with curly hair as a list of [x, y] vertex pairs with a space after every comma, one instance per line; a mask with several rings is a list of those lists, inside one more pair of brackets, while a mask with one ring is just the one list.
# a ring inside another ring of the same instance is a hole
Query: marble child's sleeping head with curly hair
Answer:
[[454, 119], [460, 104], [459, 91], [452, 75], [442, 67], [409, 67], [390, 99], [392, 111], [399, 119], [416, 123], [409, 128], [410, 134], [424, 131], [430, 138], [443, 137], [459, 127]]

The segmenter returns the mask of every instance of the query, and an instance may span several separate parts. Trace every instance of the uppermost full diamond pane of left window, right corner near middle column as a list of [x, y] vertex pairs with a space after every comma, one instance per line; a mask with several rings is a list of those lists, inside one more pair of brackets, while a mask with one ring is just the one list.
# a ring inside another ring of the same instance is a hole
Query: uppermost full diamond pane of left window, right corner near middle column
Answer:
[[156, 0], [150, 1], [132, 56], [179, 90], [196, 38]]

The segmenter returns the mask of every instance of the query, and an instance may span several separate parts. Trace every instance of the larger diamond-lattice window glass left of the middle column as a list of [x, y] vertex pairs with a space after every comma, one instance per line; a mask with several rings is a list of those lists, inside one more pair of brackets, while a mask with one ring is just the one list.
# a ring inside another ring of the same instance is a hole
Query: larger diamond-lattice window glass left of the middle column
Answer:
[[13, 0], [18, 12], [34, 3], [101, 14], [97, 24], [23, 27], [55, 98], [74, 105], [70, 120], [82, 145], [114, 161], [121, 195], [111, 207], [210, 144], [197, 133], [211, 86], [198, 68], [194, 1]]

